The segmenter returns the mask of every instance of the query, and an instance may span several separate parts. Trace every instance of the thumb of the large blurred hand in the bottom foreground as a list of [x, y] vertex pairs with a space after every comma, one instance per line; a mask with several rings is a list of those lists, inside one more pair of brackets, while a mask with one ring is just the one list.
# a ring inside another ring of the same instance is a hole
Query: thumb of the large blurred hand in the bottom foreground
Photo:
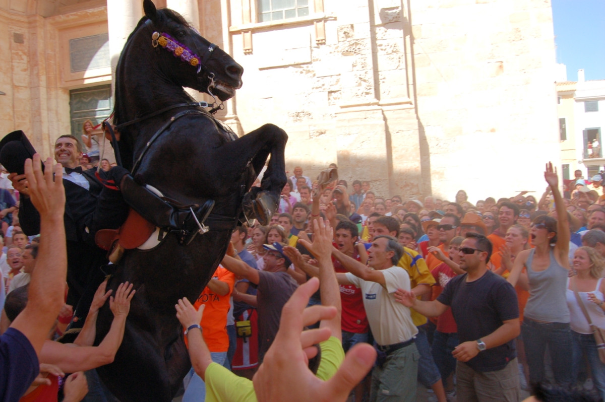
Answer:
[[376, 361], [376, 350], [367, 343], [358, 343], [345, 355], [336, 374], [322, 384], [330, 395], [327, 400], [345, 400], [348, 393], [370, 371]]

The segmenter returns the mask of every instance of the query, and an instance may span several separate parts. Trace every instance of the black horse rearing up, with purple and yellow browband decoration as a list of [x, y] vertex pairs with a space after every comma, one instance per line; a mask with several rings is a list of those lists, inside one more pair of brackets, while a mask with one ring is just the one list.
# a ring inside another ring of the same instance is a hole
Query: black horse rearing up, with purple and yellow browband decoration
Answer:
[[[137, 294], [114, 362], [97, 371], [123, 402], [170, 401], [178, 391], [191, 364], [175, 303], [181, 297], [197, 299], [210, 280], [242, 216], [244, 199], [257, 207], [252, 211], [262, 212], [263, 203], [253, 203], [265, 197], [275, 204], [286, 183], [283, 130], [264, 125], [237, 138], [183, 90], [227, 100], [240, 88], [243, 68], [174, 11], [156, 10], [151, 0], [143, 6], [145, 16], [116, 70], [113, 122], [123, 166], [133, 170], [137, 184], [153, 186], [181, 206], [215, 204], [206, 220], [208, 233], [186, 241], [165, 234], [150, 250], [126, 250], [116, 266], [108, 288], [115, 291], [128, 280]], [[261, 188], [251, 192], [269, 155]], [[145, 216], [140, 206], [139, 212]], [[97, 343], [112, 319], [105, 306], [97, 320]]]

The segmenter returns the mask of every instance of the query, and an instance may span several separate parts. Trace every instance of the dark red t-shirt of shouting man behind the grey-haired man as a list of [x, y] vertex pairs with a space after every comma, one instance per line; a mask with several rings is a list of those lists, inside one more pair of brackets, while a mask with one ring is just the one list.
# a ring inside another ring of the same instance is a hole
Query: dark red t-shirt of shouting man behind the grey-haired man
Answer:
[[[359, 261], [359, 254], [355, 251], [353, 256]], [[334, 270], [336, 272], [348, 272], [345, 270], [341, 263], [332, 258], [334, 264]], [[340, 285], [341, 291], [341, 328], [343, 331], [353, 332], [355, 334], [365, 334], [370, 331], [370, 324], [368, 318], [365, 315], [364, 300], [362, 299], [361, 289], [355, 285]]]

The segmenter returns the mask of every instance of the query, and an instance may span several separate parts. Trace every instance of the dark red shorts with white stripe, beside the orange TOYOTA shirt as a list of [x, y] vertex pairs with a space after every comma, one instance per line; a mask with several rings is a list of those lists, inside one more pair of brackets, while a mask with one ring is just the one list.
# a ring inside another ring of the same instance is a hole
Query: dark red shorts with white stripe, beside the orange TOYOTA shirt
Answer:
[[237, 347], [233, 360], [231, 361], [231, 369], [233, 371], [246, 370], [258, 367], [258, 313], [257, 309], [250, 308], [244, 310], [243, 313], [235, 317], [235, 325], [237, 330], [238, 322], [250, 322], [249, 334], [246, 331], [238, 331]]

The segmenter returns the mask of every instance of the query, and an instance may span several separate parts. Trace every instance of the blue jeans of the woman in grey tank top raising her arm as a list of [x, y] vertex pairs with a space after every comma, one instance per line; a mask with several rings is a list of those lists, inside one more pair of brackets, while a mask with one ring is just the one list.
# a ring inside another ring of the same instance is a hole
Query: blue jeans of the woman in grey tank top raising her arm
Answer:
[[546, 345], [551, 354], [552, 373], [558, 386], [569, 387], [572, 381], [572, 336], [569, 323], [541, 323], [525, 318], [521, 325], [529, 382], [543, 383]]

